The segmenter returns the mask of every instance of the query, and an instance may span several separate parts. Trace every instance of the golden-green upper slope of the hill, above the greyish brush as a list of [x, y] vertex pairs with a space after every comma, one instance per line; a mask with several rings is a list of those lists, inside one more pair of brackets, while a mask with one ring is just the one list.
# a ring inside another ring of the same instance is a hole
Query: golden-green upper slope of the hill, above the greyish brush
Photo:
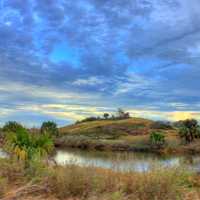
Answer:
[[60, 129], [61, 134], [87, 135], [143, 135], [147, 134], [153, 121], [141, 118], [124, 120], [98, 120], [66, 126]]

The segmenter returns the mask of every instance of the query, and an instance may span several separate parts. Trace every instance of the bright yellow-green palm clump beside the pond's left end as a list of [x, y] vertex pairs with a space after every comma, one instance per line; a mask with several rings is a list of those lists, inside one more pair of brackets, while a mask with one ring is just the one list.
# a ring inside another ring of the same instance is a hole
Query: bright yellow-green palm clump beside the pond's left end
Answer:
[[53, 149], [53, 142], [46, 135], [31, 135], [18, 127], [15, 132], [6, 134], [5, 148], [20, 160], [32, 160], [46, 156]]

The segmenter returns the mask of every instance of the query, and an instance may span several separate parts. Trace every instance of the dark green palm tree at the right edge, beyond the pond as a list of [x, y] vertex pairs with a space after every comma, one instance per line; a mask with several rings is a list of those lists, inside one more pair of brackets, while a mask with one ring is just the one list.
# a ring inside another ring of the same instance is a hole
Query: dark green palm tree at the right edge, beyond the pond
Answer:
[[186, 143], [192, 142], [194, 138], [200, 138], [200, 127], [197, 120], [187, 119], [181, 121], [179, 135], [181, 138], [184, 138]]

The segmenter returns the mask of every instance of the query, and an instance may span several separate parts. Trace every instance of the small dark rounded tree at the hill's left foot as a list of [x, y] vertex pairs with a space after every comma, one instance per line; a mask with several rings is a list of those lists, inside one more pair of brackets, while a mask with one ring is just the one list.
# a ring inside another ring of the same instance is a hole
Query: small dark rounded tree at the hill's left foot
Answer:
[[41, 126], [42, 134], [49, 134], [50, 136], [58, 136], [57, 124], [52, 121], [43, 122]]

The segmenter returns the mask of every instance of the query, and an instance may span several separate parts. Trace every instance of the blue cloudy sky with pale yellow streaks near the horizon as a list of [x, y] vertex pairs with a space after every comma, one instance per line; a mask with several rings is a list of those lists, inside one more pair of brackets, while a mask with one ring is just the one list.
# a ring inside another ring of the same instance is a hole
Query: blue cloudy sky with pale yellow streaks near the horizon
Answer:
[[0, 125], [123, 108], [200, 119], [199, 0], [0, 0]]

